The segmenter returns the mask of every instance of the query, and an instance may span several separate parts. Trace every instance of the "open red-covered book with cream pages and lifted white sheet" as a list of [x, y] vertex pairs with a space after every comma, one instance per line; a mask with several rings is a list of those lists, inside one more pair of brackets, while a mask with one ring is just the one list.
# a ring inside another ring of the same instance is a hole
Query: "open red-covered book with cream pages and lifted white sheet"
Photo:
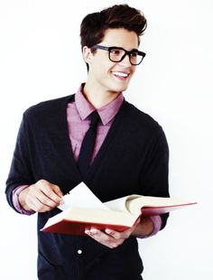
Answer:
[[137, 194], [103, 203], [83, 182], [69, 191], [63, 201], [59, 206], [62, 211], [48, 219], [42, 231], [73, 235], [83, 235], [85, 229], [90, 228], [123, 231], [131, 228], [139, 217], [160, 215], [196, 204]]

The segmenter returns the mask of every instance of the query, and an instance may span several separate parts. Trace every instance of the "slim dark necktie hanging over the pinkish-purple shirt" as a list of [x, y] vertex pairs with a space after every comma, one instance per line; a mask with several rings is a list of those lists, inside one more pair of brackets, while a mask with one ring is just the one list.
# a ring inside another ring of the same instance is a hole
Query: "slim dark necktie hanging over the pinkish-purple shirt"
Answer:
[[80, 173], [84, 176], [89, 167], [89, 163], [91, 161], [91, 156], [93, 154], [94, 145], [96, 142], [96, 135], [97, 135], [97, 124], [100, 120], [100, 117], [97, 111], [94, 111], [91, 114], [91, 122], [88, 128], [86, 135], [82, 141], [80, 152], [79, 152], [79, 159], [78, 159], [78, 166]]

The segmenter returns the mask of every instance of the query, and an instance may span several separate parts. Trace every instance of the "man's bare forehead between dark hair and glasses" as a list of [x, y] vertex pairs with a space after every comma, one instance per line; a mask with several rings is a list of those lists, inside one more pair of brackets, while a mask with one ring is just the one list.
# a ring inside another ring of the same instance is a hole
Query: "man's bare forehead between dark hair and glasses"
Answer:
[[133, 31], [124, 28], [107, 29], [101, 43], [107, 47], [116, 46], [132, 50], [138, 47], [138, 37]]

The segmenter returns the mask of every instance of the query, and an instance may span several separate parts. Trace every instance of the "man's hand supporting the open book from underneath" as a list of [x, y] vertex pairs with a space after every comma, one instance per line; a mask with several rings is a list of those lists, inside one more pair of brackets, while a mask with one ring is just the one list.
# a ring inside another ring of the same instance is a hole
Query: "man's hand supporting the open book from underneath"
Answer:
[[121, 245], [126, 238], [129, 238], [132, 235], [134, 229], [136, 229], [139, 223], [140, 219], [136, 221], [132, 228], [126, 229], [123, 232], [118, 232], [113, 229], [105, 229], [105, 231], [101, 231], [98, 229], [86, 229], [85, 233], [90, 238], [97, 240], [97, 242], [101, 243], [102, 245], [110, 248], [115, 248]]

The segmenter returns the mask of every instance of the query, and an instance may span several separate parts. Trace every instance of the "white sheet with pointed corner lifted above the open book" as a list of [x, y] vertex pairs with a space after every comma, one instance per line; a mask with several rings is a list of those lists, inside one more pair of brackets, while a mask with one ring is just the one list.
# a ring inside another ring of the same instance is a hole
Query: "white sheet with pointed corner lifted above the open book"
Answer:
[[88, 186], [84, 182], [80, 182], [68, 194], [64, 195], [62, 199], [64, 203], [58, 206], [60, 210], [67, 210], [70, 207], [108, 210], [106, 205], [88, 189]]

